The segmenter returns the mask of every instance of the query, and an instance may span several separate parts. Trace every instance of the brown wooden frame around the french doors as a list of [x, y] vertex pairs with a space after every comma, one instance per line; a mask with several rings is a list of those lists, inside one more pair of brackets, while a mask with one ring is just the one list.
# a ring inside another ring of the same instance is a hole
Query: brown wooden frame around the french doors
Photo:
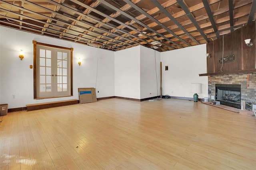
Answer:
[[[58, 49], [66, 49], [66, 50], [70, 50], [70, 96], [73, 96], [73, 48], [67, 48], [67, 47], [60, 47], [60, 46], [57, 46], [57, 45], [50, 45], [50, 44], [45, 44], [45, 43], [39, 43], [37, 41], [32, 41], [33, 43], [33, 65], [34, 65], [34, 68], [33, 68], [33, 75], [34, 75], [34, 99], [44, 99], [44, 98], [38, 98], [37, 97], [37, 72], [36, 72], [36, 59], [37, 59], [37, 56], [36, 56], [36, 45], [43, 45], [43, 46], [46, 46], [46, 47], [54, 47], [54, 48], [58, 48]], [[61, 98], [61, 97], [69, 97], [69, 96], [52, 96], [52, 97], [47, 97], [47, 98]]]

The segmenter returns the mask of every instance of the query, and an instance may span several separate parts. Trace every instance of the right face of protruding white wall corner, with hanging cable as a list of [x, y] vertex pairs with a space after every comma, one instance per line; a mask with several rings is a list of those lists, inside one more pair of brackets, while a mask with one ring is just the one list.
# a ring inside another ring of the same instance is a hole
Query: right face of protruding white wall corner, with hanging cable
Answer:
[[160, 54], [140, 46], [140, 99], [160, 96]]

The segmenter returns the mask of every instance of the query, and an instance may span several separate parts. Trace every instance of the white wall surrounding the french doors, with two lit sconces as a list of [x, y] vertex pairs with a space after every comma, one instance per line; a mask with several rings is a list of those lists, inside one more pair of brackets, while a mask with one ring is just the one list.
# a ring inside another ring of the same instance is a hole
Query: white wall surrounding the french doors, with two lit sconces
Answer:
[[[73, 47], [73, 95], [65, 98], [33, 99], [33, 44], [32, 41]], [[24, 59], [18, 58], [24, 51]], [[0, 26], [0, 103], [8, 108], [26, 104], [78, 99], [78, 88], [96, 87], [97, 98], [114, 96], [114, 52], [61, 39], [18, 31]], [[82, 59], [79, 66], [78, 58]], [[98, 65], [98, 66], [97, 66]], [[97, 70], [98, 68], [98, 70]], [[97, 74], [98, 72], [98, 74]], [[96, 80], [97, 78], [97, 80]], [[13, 99], [12, 95], [15, 95]]]

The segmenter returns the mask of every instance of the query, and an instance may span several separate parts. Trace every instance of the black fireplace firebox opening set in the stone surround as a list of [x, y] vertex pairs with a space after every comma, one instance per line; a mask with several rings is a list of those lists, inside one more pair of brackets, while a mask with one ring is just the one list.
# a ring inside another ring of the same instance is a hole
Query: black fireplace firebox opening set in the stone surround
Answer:
[[216, 101], [220, 104], [241, 109], [240, 84], [215, 84]]

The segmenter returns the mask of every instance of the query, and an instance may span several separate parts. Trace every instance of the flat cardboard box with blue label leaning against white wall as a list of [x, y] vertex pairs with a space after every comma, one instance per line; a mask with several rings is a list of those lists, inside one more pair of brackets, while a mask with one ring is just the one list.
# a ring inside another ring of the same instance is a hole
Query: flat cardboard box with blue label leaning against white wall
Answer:
[[79, 103], [97, 102], [95, 88], [78, 88]]

